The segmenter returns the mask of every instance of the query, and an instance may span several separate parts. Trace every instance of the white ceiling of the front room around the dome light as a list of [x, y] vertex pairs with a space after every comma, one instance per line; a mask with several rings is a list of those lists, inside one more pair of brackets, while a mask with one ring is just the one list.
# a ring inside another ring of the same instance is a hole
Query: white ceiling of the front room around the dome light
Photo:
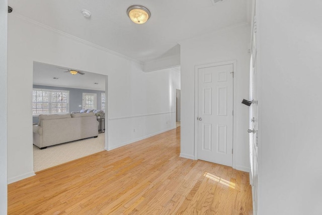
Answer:
[[[148, 62], [180, 54], [179, 41], [248, 21], [249, 0], [9, 0], [17, 13], [99, 46]], [[142, 25], [127, 17], [143, 5], [151, 18]], [[83, 17], [86, 9], [92, 17]]]

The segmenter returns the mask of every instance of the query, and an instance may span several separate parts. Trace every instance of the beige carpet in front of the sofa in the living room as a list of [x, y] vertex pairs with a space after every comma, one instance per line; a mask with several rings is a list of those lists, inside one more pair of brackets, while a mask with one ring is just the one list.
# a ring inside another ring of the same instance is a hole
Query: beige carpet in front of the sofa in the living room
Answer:
[[34, 171], [39, 172], [69, 161], [104, 151], [105, 133], [97, 138], [88, 138], [68, 142], [66, 144], [47, 147], [40, 150], [33, 145]]

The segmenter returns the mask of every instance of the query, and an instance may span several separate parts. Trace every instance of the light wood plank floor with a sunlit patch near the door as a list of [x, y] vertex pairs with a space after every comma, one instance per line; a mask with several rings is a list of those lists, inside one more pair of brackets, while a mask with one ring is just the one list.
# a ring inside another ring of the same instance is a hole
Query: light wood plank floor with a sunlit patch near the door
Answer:
[[180, 127], [8, 186], [9, 214], [252, 214], [249, 174], [179, 157]]

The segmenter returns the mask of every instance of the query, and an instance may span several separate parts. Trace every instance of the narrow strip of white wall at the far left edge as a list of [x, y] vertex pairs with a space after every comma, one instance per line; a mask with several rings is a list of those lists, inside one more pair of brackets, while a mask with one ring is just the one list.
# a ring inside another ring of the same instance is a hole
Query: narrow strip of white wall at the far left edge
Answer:
[[0, 1], [0, 214], [7, 214], [7, 24], [8, 1]]

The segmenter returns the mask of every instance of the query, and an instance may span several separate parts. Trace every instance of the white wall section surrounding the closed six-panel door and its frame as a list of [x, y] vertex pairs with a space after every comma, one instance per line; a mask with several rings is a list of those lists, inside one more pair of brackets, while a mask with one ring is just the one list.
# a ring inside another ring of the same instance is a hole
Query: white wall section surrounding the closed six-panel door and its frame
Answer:
[[181, 45], [181, 156], [194, 157], [195, 66], [237, 60], [234, 82], [237, 82], [237, 104], [234, 110], [235, 168], [250, 171], [248, 115], [249, 108], [240, 102], [249, 98], [249, 25], [183, 41]]

